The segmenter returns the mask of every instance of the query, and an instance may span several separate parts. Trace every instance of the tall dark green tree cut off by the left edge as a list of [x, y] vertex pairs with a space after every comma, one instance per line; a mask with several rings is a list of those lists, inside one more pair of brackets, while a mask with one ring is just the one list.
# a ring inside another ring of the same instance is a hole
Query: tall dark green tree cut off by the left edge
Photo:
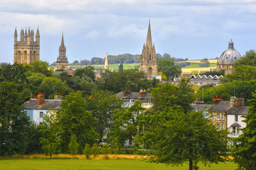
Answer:
[[25, 153], [29, 118], [24, 114], [24, 96], [15, 82], [0, 82], [0, 155]]

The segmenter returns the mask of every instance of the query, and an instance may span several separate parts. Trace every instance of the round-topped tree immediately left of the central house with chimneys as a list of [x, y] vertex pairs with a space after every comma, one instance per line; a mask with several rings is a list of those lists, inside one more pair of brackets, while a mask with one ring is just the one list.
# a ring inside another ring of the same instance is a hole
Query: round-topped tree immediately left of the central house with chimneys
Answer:
[[113, 128], [113, 112], [122, 107], [122, 100], [110, 91], [96, 91], [91, 97], [86, 97], [86, 110], [92, 112], [93, 127], [100, 136], [99, 142]]

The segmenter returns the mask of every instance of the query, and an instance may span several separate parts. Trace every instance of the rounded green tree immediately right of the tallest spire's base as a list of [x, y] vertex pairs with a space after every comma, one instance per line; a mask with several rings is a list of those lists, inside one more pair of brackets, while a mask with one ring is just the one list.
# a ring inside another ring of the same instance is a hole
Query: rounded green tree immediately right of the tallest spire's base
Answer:
[[163, 72], [166, 77], [179, 77], [181, 69], [174, 63], [173, 58], [161, 58], [158, 61], [158, 72]]

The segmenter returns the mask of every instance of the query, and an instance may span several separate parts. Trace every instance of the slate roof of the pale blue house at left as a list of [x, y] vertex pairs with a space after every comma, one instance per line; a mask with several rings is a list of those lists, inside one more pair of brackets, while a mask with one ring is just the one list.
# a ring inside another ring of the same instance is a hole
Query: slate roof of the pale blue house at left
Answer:
[[45, 99], [44, 104], [37, 105], [37, 99], [32, 98], [28, 102], [25, 102], [25, 109], [38, 109], [38, 110], [58, 110], [60, 109], [61, 100]]

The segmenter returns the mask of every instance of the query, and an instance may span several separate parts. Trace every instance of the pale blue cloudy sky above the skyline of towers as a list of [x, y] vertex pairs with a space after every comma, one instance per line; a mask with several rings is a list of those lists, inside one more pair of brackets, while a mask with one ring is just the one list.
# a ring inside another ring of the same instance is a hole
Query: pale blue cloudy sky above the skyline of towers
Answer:
[[40, 31], [40, 60], [58, 57], [64, 33], [68, 61], [141, 54], [151, 22], [156, 52], [175, 58], [220, 57], [230, 38], [243, 56], [256, 47], [253, 0], [0, 0], [0, 63], [13, 63], [17, 26]]

